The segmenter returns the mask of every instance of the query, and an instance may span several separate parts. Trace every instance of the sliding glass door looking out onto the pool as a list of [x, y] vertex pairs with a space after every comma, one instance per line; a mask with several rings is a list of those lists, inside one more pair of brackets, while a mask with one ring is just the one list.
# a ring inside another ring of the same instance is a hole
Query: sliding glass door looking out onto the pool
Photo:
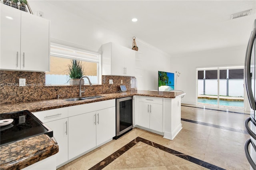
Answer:
[[197, 69], [197, 104], [218, 107], [244, 107], [244, 70], [216, 67]]

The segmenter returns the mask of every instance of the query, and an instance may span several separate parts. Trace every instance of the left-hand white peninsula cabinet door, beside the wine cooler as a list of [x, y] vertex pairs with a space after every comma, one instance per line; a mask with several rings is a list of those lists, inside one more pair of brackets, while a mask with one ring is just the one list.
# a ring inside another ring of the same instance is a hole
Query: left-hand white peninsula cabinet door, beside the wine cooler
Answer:
[[150, 103], [139, 102], [138, 125], [150, 128]]

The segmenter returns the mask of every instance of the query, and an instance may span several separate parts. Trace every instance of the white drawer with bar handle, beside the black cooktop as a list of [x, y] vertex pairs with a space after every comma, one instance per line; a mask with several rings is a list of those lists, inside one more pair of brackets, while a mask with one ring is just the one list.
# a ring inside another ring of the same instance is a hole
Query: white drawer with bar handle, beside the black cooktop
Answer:
[[34, 115], [43, 123], [68, 117], [68, 107], [48, 111], [34, 112]]

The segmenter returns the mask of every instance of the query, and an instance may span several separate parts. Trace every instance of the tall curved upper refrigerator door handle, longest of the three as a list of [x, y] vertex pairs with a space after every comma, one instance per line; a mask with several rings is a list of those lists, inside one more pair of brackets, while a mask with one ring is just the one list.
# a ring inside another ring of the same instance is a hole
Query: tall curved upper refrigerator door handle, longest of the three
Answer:
[[253, 110], [256, 110], [256, 105], [255, 105], [255, 100], [253, 96], [253, 91], [252, 91], [252, 81], [251, 81], [251, 76], [250, 76], [250, 65], [251, 65], [251, 55], [252, 55], [252, 47], [254, 43], [256, 35], [256, 28], [253, 29], [250, 39], [247, 45], [246, 49], [246, 56], [245, 56], [245, 62], [244, 62], [244, 75], [245, 75], [245, 85], [246, 85], [246, 91], [247, 95], [250, 101], [250, 105]]

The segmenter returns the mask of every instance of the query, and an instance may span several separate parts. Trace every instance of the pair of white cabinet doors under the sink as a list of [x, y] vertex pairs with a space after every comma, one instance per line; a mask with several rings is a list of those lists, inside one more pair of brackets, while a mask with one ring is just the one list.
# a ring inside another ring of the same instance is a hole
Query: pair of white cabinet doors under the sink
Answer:
[[115, 136], [115, 111], [115, 107], [110, 107], [68, 118], [68, 159], [83, 154]]

